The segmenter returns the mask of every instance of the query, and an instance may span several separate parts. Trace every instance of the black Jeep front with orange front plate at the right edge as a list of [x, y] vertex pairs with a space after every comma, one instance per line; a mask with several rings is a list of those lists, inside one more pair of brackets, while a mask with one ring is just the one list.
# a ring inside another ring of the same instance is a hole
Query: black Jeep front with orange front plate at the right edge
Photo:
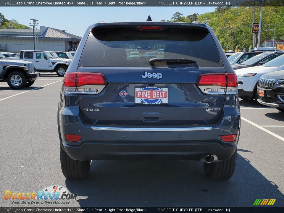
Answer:
[[269, 72], [258, 81], [257, 92], [260, 104], [272, 106], [284, 112], [284, 70]]

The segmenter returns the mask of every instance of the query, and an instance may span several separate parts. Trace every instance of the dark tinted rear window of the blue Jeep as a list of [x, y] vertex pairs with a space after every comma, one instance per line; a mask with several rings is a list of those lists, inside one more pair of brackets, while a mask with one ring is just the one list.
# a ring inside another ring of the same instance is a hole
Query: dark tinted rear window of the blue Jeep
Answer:
[[[138, 52], [139, 57], [129, 57], [130, 52]], [[79, 66], [152, 67], [153, 64], [149, 64], [152, 58], [196, 61], [156, 62], [154, 67], [224, 67], [212, 35], [206, 28], [171, 26], [162, 30], [139, 30], [132, 25], [93, 28], [85, 43]]]

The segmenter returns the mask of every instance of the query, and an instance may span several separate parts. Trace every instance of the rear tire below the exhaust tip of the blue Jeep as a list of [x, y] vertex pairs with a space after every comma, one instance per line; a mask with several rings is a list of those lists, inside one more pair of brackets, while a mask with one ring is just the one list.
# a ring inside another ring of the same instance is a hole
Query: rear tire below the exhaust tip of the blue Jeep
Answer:
[[233, 156], [228, 160], [216, 163], [203, 163], [205, 174], [214, 180], [227, 180], [232, 177], [237, 161], [237, 149]]

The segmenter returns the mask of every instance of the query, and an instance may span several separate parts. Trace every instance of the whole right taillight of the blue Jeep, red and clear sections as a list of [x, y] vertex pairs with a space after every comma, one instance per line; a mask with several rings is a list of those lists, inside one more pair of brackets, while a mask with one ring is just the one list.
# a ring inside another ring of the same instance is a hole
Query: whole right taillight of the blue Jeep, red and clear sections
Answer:
[[238, 91], [238, 79], [235, 73], [201, 74], [196, 84], [206, 94], [236, 94]]

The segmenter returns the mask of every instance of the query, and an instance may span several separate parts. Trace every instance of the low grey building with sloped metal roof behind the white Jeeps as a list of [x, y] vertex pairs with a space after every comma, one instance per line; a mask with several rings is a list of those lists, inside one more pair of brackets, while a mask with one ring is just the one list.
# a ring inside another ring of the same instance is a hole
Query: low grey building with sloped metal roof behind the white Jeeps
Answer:
[[[0, 51], [33, 50], [33, 29], [0, 29]], [[59, 29], [40, 26], [35, 30], [35, 49], [76, 51], [81, 37]]]

